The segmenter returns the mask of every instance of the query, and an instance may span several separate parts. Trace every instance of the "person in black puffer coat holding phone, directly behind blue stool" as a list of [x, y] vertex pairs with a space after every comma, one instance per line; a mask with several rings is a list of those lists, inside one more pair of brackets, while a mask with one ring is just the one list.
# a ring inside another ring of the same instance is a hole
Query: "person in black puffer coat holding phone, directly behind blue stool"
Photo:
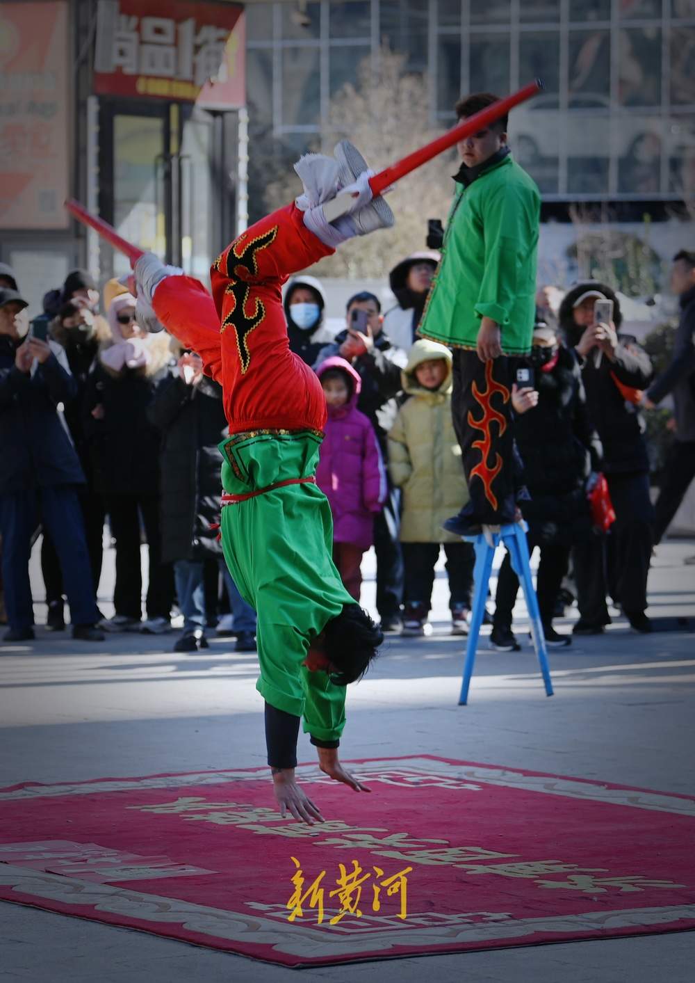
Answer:
[[[569, 645], [568, 635], [553, 627], [556, 599], [567, 571], [572, 544], [592, 535], [587, 499], [590, 476], [601, 464], [601, 442], [586, 406], [581, 370], [572, 352], [560, 344], [556, 330], [536, 320], [528, 358], [535, 388], [514, 386], [514, 439], [523, 462], [522, 481], [530, 499], [522, 504], [528, 523], [528, 551], [540, 548], [538, 607], [551, 646]], [[583, 587], [584, 585], [582, 585]], [[493, 630], [493, 648], [518, 651], [511, 632], [511, 611], [518, 580], [509, 555], [500, 569]], [[585, 591], [578, 592], [585, 610]]]

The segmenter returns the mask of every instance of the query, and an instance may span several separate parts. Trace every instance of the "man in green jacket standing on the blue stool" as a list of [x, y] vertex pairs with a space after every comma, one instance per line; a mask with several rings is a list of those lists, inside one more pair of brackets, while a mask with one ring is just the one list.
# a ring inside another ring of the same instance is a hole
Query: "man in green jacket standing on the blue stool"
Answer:
[[[497, 99], [469, 95], [456, 116]], [[512, 357], [531, 350], [540, 195], [509, 154], [507, 116], [463, 138], [458, 152], [442, 261], [418, 333], [454, 349], [452, 414], [470, 500], [444, 528], [465, 536], [517, 517]]]

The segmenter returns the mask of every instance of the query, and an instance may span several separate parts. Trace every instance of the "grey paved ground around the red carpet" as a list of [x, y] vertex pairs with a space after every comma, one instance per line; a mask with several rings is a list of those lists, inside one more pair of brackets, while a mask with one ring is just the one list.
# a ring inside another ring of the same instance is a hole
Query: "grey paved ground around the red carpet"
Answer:
[[[694, 552], [692, 541], [659, 549], [650, 614], [695, 618], [695, 566], [683, 565]], [[112, 562], [107, 554], [105, 591]], [[368, 558], [367, 607], [372, 569]], [[109, 612], [105, 600], [102, 609]], [[36, 611], [40, 619], [42, 606]], [[469, 705], [461, 708], [462, 646], [447, 634], [441, 576], [434, 618], [432, 637], [390, 639], [369, 677], [350, 688], [347, 759], [441, 754], [693, 793], [695, 635], [681, 628], [635, 636], [616, 620], [605, 636], [552, 655], [552, 699], [528, 643], [518, 655], [483, 651]], [[39, 629], [30, 645], [0, 647], [0, 785], [262, 765], [255, 657], [231, 653], [224, 639], [206, 653], [175, 656], [168, 651], [173, 638], [124, 635], [84, 646]], [[300, 760], [312, 757], [302, 744]], [[0, 939], [3, 981], [296, 979], [296, 970], [14, 904], [0, 903]], [[423, 973], [471, 983], [690, 983], [694, 959], [695, 933], [684, 932], [300, 972], [335, 983], [414, 983]]]

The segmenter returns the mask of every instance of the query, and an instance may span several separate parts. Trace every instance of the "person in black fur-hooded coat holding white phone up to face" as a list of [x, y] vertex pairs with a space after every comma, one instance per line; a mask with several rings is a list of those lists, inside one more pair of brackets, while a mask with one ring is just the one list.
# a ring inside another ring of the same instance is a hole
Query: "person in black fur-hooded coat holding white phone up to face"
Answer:
[[[613, 321], [596, 323], [594, 305], [610, 300]], [[635, 631], [649, 632], [647, 577], [652, 555], [654, 507], [649, 494], [649, 458], [644, 421], [639, 412], [642, 390], [654, 371], [649, 356], [634, 338], [617, 333], [620, 304], [609, 286], [591, 280], [573, 287], [562, 299], [559, 320], [567, 344], [582, 370], [587, 405], [604, 450], [603, 471], [615, 509], [615, 524], [605, 541], [587, 538], [575, 547], [575, 575], [594, 587], [590, 614], [574, 625], [577, 634], [599, 634], [611, 618], [607, 586]], [[608, 584], [605, 570], [608, 568]]]

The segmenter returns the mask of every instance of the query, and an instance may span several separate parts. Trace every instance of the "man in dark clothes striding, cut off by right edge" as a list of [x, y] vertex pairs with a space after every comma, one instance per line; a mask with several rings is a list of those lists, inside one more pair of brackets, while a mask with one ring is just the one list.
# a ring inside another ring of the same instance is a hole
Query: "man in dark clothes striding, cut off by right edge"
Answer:
[[665, 372], [650, 385], [644, 400], [647, 409], [654, 409], [668, 393], [673, 394], [675, 440], [657, 498], [655, 543], [661, 543], [695, 478], [695, 252], [680, 250], [673, 257], [670, 286], [680, 306], [673, 356]]

